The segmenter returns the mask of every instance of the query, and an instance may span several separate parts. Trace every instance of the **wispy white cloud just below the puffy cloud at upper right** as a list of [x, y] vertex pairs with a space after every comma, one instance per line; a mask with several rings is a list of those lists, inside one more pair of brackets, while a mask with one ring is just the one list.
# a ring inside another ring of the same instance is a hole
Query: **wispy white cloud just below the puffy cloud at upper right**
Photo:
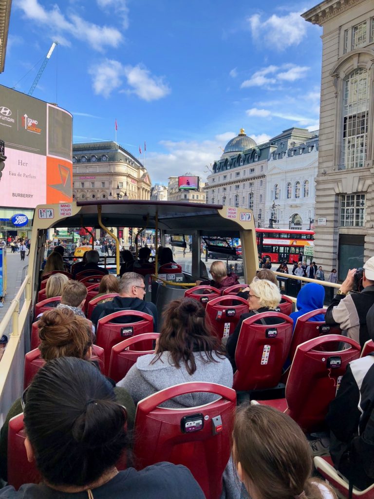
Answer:
[[271, 88], [277, 83], [279, 84], [284, 81], [291, 82], [304, 78], [309, 69], [308, 66], [297, 66], [296, 64], [270, 65], [253, 73], [249, 80], [243, 81], [240, 87]]

